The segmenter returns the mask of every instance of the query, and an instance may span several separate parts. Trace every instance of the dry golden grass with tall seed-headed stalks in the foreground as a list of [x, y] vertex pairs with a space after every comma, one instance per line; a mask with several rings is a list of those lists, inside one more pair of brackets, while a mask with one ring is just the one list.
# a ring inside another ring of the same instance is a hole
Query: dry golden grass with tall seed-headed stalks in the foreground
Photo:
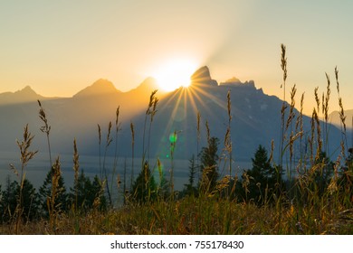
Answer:
[[[326, 92], [319, 94], [319, 88], [314, 89], [313, 97], [316, 105], [310, 118], [310, 129], [305, 132], [304, 127], [304, 93], [301, 95], [300, 111], [296, 111], [296, 85], [291, 88], [291, 102], [286, 102], [287, 58], [286, 47], [281, 44], [281, 70], [283, 71], [281, 88], [283, 89], [283, 103], [281, 105], [281, 136], [279, 147], [279, 162], [274, 163], [273, 154], [275, 143], [272, 141], [269, 162], [276, 170], [276, 183], [271, 188], [265, 187], [265, 191], [259, 191], [255, 199], [250, 192], [254, 183], [258, 190], [260, 182], [254, 182], [254, 178], [248, 171], [243, 171], [242, 179], [238, 179], [232, 167], [234, 154], [232, 144], [232, 103], [230, 90], [227, 93], [227, 125], [224, 135], [224, 164], [229, 163], [229, 170], [225, 175], [217, 179], [215, 187], [211, 189], [211, 181], [208, 173], [215, 170], [214, 166], [203, 166], [199, 172], [199, 184], [197, 194], [184, 195], [179, 198], [176, 194], [175, 183], [175, 130], [170, 142], [170, 178], [169, 192], [165, 191], [164, 173], [160, 159], [157, 157], [157, 171], [159, 183], [157, 189], [149, 189], [148, 185], [152, 175], [148, 175], [150, 159], [150, 141], [152, 139], [152, 123], [157, 112], [157, 90], [150, 95], [148, 109], [145, 114], [142, 136], [142, 175], [145, 177], [145, 188], [148, 188], [147, 201], [134, 201], [129, 198], [134, 195], [132, 187], [134, 178], [135, 156], [135, 126], [130, 122], [131, 132], [131, 173], [130, 194], [127, 192], [127, 164], [125, 160], [124, 205], [117, 209], [102, 212], [99, 209], [100, 197], [108, 193], [111, 204], [112, 183], [108, 187], [106, 169], [106, 156], [108, 147], [112, 142], [110, 122], [108, 134], [104, 146], [103, 162], [100, 158], [100, 192], [95, 196], [93, 209], [87, 213], [77, 211], [78, 191], [75, 190], [76, 199], [72, 203], [75, 219], [70, 214], [60, 212], [56, 196], [58, 192], [58, 179], [61, 176], [59, 157], [52, 165], [52, 193], [48, 197], [49, 224], [51, 233], [82, 233], [82, 234], [351, 234], [353, 233], [353, 164], [347, 154], [348, 141], [346, 129], [346, 115], [343, 109], [339, 88], [339, 70], [335, 69], [337, 91], [339, 94], [339, 117], [341, 120], [340, 154], [330, 161], [331, 150], [329, 146], [329, 98], [330, 80], [326, 74]], [[50, 150], [49, 132], [45, 113], [41, 103], [40, 117], [44, 122], [43, 132], [47, 135]], [[320, 121], [322, 114], [323, 121]], [[148, 121], [149, 117], [149, 121]], [[236, 119], [235, 119], [236, 120]], [[196, 114], [196, 152], [199, 154], [201, 142], [200, 123], [201, 116]], [[117, 166], [118, 134], [119, 134], [119, 108], [116, 111], [115, 121], [115, 159], [114, 168]], [[99, 129], [99, 148], [101, 149], [101, 129]], [[217, 129], [218, 130], [218, 129]], [[147, 136], [148, 135], [148, 136]], [[211, 129], [205, 120], [205, 138], [208, 146], [212, 143]], [[17, 141], [21, 152], [21, 173], [18, 173], [14, 165], [11, 165], [14, 173], [20, 177], [20, 192], [15, 211], [15, 233], [28, 232], [30, 226], [36, 228], [35, 232], [44, 233], [47, 226], [39, 220], [35, 224], [29, 224], [20, 228], [23, 212], [22, 191], [25, 178], [25, 166], [33, 158], [36, 152], [29, 151], [33, 136], [29, 133], [28, 126], [24, 127], [24, 141]], [[306, 145], [304, 148], [303, 145]], [[299, 146], [299, 148], [298, 148]], [[100, 151], [101, 152], [101, 151]], [[351, 153], [351, 151], [349, 151]], [[51, 152], [50, 152], [51, 153]], [[100, 154], [101, 155], [101, 154]], [[352, 155], [352, 154], [351, 154]], [[351, 156], [350, 156], [351, 157]], [[351, 157], [352, 158], [352, 157]], [[350, 159], [351, 159], [350, 158]], [[51, 159], [51, 158], [50, 158]], [[223, 159], [223, 158], [222, 158]], [[220, 160], [218, 163], [220, 164]], [[199, 156], [197, 166], [201, 168]], [[73, 170], [74, 183], [77, 185], [79, 174], [79, 153], [76, 139], [73, 140]], [[155, 166], [155, 168], [156, 168]], [[217, 166], [217, 164], [215, 164]], [[281, 179], [282, 170], [286, 167], [287, 182]], [[225, 167], [225, 165], [224, 165]], [[154, 168], [154, 169], [155, 169]], [[115, 170], [115, 169], [114, 169]], [[297, 172], [293, 174], [293, 172]], [[114, 174], [114, 173], [113, 173]], [[153, 171], [152, 173], [153, 174]], [[330, 175], [331, 174], [331, 175]], [[329, 176], [328, 176], [329, 175]], [[117, 185], [121, 179], [118, 175]], [[192, 185], [192, 183], [191, 183]], [[256, 189], [255, 189], [256, 190]], [[118, 191], [118, 190], [117, 190]], [[155, 191], [155, 192], [154, 192]], [[225, 193], [224, 193], [225, 192]], [[169, 198], [166, 198], [169, 193]], [[152, 197], [154, 196], [154, 197]], [[259, 200], [259, 201], [258, 201]], [[60, 217], [60, 219], [59, 219]], [[33, 228], [32, 227], [32, 228]], [[73, 228], [73, 230], [72, 230]], [[22, 230], [20, 230], [22, 229]]]

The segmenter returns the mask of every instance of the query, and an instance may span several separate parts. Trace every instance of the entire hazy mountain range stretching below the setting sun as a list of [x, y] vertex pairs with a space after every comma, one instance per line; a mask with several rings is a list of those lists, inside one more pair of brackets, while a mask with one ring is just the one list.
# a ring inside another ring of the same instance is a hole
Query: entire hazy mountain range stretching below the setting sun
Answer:
[[[224, 136], [228, 125], [227, 94], [231, 101], [231, 136], [235, 161], [251, 161], [258, 145], [269, 152], [274, 140], [275, 154], [281, 136], [282, 100], [257, 89], [253, 80], [242, 82], [236, 78], [218, 84], [211, 78], [210, 70], [202, 67], [191, 76], [191, 85], [172, 92], [157, 91], [157, 113], [149, 125], [146, 116], [149, 96], [157, 89], [156, 80], [148, 78], [136, 89], [121, 92], [109, 80], [97, 80], [72, 98], [44, 98], [29, 86], [16, 92], [0, 94], [1, 152], [17, 152], [15, 140], [22, 139], [23, 128], [28, 123], [35, 136], [33, 148], [47, 152], [46, 138], [40, 131], [43, 126], [38, 117], [40, 99], [52, 126], [50, 138], [53, 154], [72, 154], [72, 141], [77, 139], [81, 155], [98, 155], [101, 127], [101, 145], [104, 145], [109, 122], [113, 124], [111, 136], [115, 140], [116, 111], [119, 108], [119, 156], [131, 156], [132, 123], [135, 130], [135, 156], [142, 155], [143, 136], [148, 156], [170, 156], [169, 137], [176, 133], [175, 155], [178, 159], [190, 159], [206, 145], [206, 122], [210, 136], [220, 140], [224, 148]], [[200, 138], [197, 132], [197, 113], [201, 116]], [[299, 112], [294, 110], [297, 115]], [[146, 121], [147, 120], [147, 121]], [[147, 124], [145, 123], [147, 122]], [[304, 130], [310, 132], [310, 117], [303, 117]], [[150, 130], [149, 130], [150, 127]], [[144, 130], [145, 129], [145, 130]], [[149, 137], [148, 137], [149, 136]], [[331, 150], [339, 147], [340, 130], [330, 127]], [[113, 155], [110, 145], [108, 155]], [[102, 149], [103, 147], [101, 147]]]

